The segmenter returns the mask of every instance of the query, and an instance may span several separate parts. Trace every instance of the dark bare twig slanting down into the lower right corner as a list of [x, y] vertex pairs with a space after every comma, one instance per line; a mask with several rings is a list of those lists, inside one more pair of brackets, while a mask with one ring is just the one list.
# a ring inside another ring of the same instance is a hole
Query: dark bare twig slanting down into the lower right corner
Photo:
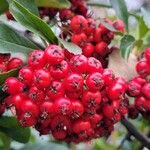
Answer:
[[124, 118], [122, 119], [122, 124], [126, 127], [131, 135], [139, 140], [145, 147], [150, 149], [150, 139], [143, 135], [141, 132], [139, 132], [130, 121]]

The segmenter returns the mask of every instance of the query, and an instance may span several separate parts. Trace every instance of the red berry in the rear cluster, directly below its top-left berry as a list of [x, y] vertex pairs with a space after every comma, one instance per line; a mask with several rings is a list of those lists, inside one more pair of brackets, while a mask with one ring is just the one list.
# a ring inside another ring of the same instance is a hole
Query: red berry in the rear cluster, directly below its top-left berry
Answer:
[[71, 37], [71, 42], [77, 44], [78, 46], [84, 46], [87, 42], [87, 36], [85, 33], [73, 34]]

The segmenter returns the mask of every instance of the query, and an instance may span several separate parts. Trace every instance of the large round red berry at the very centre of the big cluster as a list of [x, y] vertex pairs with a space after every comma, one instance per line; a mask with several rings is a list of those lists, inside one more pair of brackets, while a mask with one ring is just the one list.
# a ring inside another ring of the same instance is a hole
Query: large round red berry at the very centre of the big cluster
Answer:
[[79, 74], [72, 73], [65, 79], [65, 89], [67, 91], [80, 91], [83, 89], [83, 78]]

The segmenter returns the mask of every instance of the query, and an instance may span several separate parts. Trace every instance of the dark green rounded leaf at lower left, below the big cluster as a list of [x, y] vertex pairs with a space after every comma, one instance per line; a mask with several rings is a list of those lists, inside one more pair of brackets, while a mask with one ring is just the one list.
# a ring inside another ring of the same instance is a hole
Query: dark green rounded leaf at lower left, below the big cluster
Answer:
[[14, 117], [1, 117], [0, 131], [20, 143], [27, 143], [30, 138], [30, 129], [21, 127]]

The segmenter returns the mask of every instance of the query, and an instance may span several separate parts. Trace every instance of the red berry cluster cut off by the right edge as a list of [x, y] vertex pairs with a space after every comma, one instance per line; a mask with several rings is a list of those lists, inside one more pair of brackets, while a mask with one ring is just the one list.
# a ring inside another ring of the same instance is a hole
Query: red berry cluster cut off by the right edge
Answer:
[[136, 70], [139, 75], [128, 83], [127, 93], [135, 98], [134, 104], [129, 108], [129, 117], [135, 119], [141, 113], [144, 118], [150, 120], [150, 48], [145, 50]]

